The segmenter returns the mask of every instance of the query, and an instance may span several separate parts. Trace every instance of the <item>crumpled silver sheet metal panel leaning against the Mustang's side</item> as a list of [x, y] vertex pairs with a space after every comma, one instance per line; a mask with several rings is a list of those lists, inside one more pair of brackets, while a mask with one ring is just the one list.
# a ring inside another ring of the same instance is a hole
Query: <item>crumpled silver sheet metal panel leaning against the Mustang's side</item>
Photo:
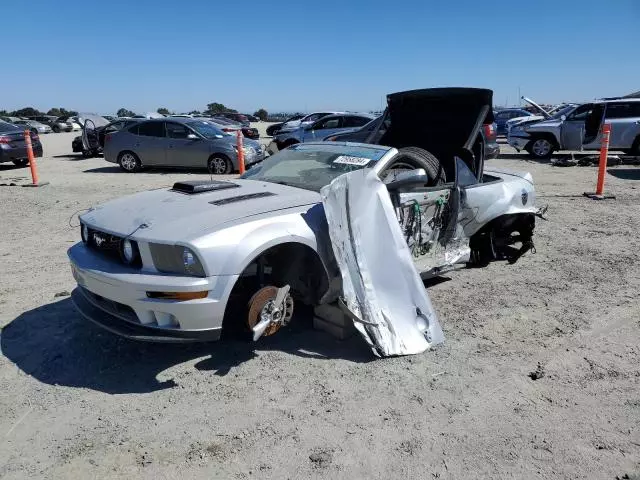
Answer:
[[421, 353], [444, 341], [386, 186], [371, 170], [321, 190], [329, 235], [355, 326], [379, 356]]

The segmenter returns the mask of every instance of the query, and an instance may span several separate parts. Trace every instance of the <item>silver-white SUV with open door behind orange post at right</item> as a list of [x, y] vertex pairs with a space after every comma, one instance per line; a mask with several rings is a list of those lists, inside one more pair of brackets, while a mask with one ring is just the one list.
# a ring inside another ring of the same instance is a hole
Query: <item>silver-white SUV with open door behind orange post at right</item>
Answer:
[[557, 150], [598, 150], [603, 121], [611, 124], [611, 150], [640, 155], [640, 98], [585, 103], [559, 117], [516, 125], [507, 141], [534, 158], [549, 158]]

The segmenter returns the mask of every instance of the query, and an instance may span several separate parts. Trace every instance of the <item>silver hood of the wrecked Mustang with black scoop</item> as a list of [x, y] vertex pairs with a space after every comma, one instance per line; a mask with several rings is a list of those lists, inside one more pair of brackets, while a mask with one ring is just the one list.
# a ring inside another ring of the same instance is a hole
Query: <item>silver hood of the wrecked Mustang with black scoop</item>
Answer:
[[191, 242], [230, 222], [320, 202], [319, 193], [286, 185], [255, 180], [224, 183], [230, 188], [197, 194], [164, 188], [137, 193], [99, 205], [80, 220], [137, 240]]

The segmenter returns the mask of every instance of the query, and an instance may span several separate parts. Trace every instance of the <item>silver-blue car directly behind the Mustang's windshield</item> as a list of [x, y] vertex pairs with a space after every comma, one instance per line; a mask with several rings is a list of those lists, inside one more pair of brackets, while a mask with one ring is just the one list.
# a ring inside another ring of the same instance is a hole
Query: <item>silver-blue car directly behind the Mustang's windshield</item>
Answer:
[[267, 150], [275, 153], [296, 143], [322, 140], [330, 135], [362, 127], [373, 119], [373, 115], [369, 113], [327, 115], [310, 125], [300, 124], [295, 130], [280, 130]]

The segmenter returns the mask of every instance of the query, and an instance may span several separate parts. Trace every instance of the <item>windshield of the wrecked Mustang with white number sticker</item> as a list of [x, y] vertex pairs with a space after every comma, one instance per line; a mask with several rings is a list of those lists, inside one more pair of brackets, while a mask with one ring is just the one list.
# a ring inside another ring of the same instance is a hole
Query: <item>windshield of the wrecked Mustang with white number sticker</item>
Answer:
[[293, 145], [251, 168], [241, 178], [319, 192], [343, 173], [370, 168], [387, 148], [364, 145]]

